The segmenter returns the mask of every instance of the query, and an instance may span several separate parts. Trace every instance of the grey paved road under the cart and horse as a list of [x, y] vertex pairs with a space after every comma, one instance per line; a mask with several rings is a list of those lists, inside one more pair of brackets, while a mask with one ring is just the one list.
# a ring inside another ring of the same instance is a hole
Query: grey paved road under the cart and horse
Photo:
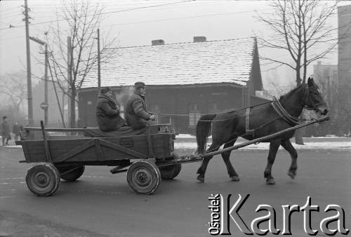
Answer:
[[[187, 151], [185, 151], [187, 152]], [[208, 196], [251, 194], [239, 214], [248, 225], [256, 217], [259, 204], [269, 204], [277, 212], [277, 227], [282, 229], [282, 205], [312, 205], [312, 227], [326, 216], [328, 204], [345, 210], [346, 227], [351, 229], [351, 157], [350, 151], [300, 151], [298, 176], [291, 180], [286, 171], [290, 157], [279, 151], [273, 172], [276, 185], [263, 180], [266, 151], [236, 151], [235, 165], [240, 182], [230, 182], [219, 156], [208, 165], [206, 182], [198, 184], [195, 172], [199, 163], [183, 165], [176, 180], [163, 181], [152, 196], [131, 192], [125, 174], [111, 175], [108, 167], [87, 167], [77, 182], [61, 182], [51, 197], [37, 198], [25, 184], [27, 164], [22, 151], [0, 148], [0, 236], [210, 236]], [[303, 213], [293, 213], [293, 236], [303, 231]], [[263, 224], [262, 227], [265, 225]], [[333, 226], [333, 225], [331, 225]], [[234, 222], [233, 236], [244, 236]], [[323, 235], [319, 232], [319, 235]]]

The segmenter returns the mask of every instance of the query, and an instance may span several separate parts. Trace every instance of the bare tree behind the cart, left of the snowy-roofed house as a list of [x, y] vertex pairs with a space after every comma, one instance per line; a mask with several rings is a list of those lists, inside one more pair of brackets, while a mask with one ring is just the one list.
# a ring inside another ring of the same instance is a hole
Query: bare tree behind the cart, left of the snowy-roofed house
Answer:
[[[70, 98], [70, 126], [75, 126], [77, 91], [97, 62], [97, 29], [102, 17], [102, 7], [86, 0], [62, 1], [58, 17], [65, 20], [52, 28], [53, 41], [49, 43], [51, 66], [55, 83]], [[113, 40], [105, 46], [112, 44]]]

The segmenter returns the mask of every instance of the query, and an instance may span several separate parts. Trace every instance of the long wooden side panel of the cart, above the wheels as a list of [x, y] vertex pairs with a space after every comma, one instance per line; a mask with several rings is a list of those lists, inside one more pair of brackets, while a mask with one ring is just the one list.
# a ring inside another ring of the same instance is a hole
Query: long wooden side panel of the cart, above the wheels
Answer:
[[[173, 135], [153, 134], [151, 142], [154, 158], [172, 156]], [[43, 140], [26, 140], [18, 144], [22, 145], [27, 163], [46, 161]], [[147, 135], [48, 140], [53, 163], [149, 158], [149, 147]]]

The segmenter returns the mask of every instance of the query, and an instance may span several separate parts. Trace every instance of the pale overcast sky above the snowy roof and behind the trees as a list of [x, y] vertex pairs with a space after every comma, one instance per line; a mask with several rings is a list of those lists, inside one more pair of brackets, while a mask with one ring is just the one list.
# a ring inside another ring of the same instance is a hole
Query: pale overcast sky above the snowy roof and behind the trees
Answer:
[[[263, 35], [266, 32], [262, 23], [253, 18], [256, 11], [270, 13], [267, 1], [230, 1], [230, 0], [101, 0], [105, 6], [104, 20], [100, 25], [102, 36], [107, 32], [110, 38], [118, 36], [118, 46], [150, 45], [152, 39], [164, 39], [166, 43], [192, 41], [193, 36], [206, 36], [208, 41], [237, 39], [253, 36], [254, 32]], [[328, 4], [329, 1], [325, 1]], [[25, 27], [22, 21], [23, 0], [0, 1], [0, 74], [16, 72], [26, 68]], [[55, 12], [62, 2], [54, 0], [28, 0], [31, 9], [32, 25], [30, 36], [44, 39], [44, 32], [56, 20]], [[169, 4], [166, 6], [155, 6]], [[342, 1], [341, 5], [351, 4]], [[154, 7], [152, 7], [154, 6]], [[144, 8], [143, 8], [144, 7]], [[139, 9], [135, 9], [139, 8]], [[114, 12], [114, 13], [111, 13]], [[337, 26], [336, 16], [330, 24]], [[10, 25], [14, 27], [10, 27]], [[267, 52], [260, 50], [260, 55]], [[272, 53], [272, 52], [269, 52]], [[44, 67], [39, 61], [44, 60], [37, 43], [31, 42], [32, 72], [41, 76]], [[286, 57], [277, 53], [277, 57]], [[323, 63], [337, 64], [337, 55], [333, 53]], [[262, 64], [262, 62], [261, 62]], [[262, 67], [263, 82], [267, 86], [267, 68]], [[312, 74], [312, 66], [310, 74]], [[281, 83], [289, 84], [293, 75], [282, 74]]]

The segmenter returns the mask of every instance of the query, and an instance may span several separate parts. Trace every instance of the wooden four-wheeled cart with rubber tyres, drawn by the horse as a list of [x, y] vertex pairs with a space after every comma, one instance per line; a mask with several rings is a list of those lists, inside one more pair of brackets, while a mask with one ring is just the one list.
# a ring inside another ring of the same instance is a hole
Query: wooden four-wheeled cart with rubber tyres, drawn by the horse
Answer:
[[[22, 137], [25, 161], [34, 163], [26, 176], [27, 187], [37, 196], [50, 196], [60, 185], [60, 179], [72, 182], [83, 175], [85, 165], [109, 165], [112, 173], [127, 172], [129, 187], [138, 194], [152, 194], [162, 179], [173, 179], [181, 169], [173, 161], [174, 129], [170, 124], [147, 128], [146, 135], [125, 137], [82, 137], [65, 135], [52, 137], [48, 131], [77, 132], [78, 129], [25, 128], [29, 137], [41, 132], [40, 140]], [[125, 168], [128, 167], [128, 170]]]

